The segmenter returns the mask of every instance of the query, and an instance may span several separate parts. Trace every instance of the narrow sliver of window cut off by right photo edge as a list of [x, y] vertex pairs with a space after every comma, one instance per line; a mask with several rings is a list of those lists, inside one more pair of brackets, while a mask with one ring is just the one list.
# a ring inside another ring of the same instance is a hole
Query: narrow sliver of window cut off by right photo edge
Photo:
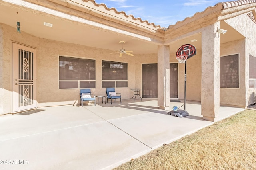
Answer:
[[256, 57], [249, 55], [249, 88], [256, 88]]

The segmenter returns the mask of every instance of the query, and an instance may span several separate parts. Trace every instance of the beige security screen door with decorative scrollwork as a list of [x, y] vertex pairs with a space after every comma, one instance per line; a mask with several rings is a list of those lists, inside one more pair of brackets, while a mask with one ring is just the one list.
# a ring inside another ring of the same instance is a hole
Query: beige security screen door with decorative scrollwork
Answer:
[[13, 43], [14, 112], [36, 108], [36, 49]]

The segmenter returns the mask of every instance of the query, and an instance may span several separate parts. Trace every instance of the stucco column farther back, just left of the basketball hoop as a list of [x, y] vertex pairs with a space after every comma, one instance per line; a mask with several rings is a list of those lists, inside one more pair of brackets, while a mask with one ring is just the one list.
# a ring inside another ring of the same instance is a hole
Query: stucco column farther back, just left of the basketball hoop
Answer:
[[157, 101], [160, 109], [170, 109], [170, 47], [158, 45]]

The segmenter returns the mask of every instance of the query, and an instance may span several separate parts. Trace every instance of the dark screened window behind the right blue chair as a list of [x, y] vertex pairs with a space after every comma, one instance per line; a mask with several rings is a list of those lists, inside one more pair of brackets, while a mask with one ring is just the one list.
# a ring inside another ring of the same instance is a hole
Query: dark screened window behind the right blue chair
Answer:
[[127, 63], [102, 61], [102, 88], [128, 87]]

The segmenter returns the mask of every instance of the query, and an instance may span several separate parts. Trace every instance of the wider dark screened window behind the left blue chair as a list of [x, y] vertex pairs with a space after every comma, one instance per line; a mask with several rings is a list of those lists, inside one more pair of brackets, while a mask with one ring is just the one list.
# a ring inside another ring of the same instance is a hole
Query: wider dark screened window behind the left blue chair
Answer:
[[59, 57], [59, 88], [95, 88], [95, 60]]

